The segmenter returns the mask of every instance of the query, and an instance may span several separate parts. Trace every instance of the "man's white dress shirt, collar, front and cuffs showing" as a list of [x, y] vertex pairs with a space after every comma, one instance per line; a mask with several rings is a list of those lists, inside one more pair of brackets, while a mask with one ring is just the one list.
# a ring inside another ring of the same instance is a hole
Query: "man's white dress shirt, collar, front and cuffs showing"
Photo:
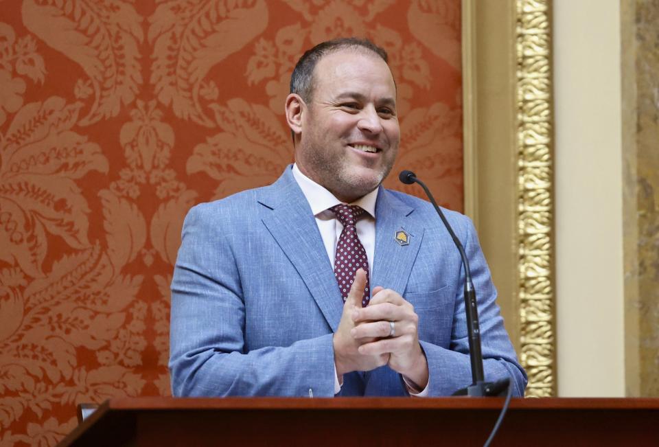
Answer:
[[[316, 218], [316, 225], [318, 225], [318, 229], [321, 232], [321, 238], [325, 245], [325, 251], [327, 251], [327, 257], [329, 257], [329, 262], [332, 264], [332, 268], [334, 268], [336, 244], [338, 244], [338, 238], [341, 236], [341, 231], [343, 231], [343, 224], [336, 218], [329, 208], [334, 205], [339, 205], [342, 202], [334, 197], [334, 194], [327, 191], [325, 187], [302, 174], [297, 167], [297, 163], [293, 165], [293, 178], [299, 185], [302, 194], [304, 194], [311, 207], [311, 211]], [[369, 192], [369, 194], [366, 194], [348, 204], [359, 205], [364, 211], [366, 211], [365, 216], [357, 221], [355, 227], [357, 229], [357, 237], [360, 242], [362, 242], [366, 251], [366, 256], [369, 260], [369, 277], [371, 277], [371, 274], [373, 273], [373, 253], [375, 253], [375, 200], [377, 199], [378, 188], [375, 188], [375, 190]], [[414, 387], [408, 383], [405, 376], [403, 376], [403, 379], [407, 385], [408, 392], [413, 396], [424, 397], [428, 394], [427, 387], [420, 393], [415, 393]], [[341, 391], [341, 384], [336, 375], [336, 365], [334, 365], [334, 393], [336, 394], [339, 391]]]

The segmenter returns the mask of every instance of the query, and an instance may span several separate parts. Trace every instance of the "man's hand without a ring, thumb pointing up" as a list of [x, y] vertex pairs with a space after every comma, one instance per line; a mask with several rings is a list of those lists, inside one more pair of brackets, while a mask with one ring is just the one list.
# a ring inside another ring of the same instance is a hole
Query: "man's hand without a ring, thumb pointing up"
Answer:
[[343, 305], [343, 314], [338, 323], [338, 329], [332, 339], [334, 345], [334, 365], [339, 381], [343, 374], [351, 371], [371, 371], [389, 361], [390, 354], [364, 355], [358, 352], [360, 345], [369, 343], [370, 339], [355, 339], [350, 330], [355, 327], [352, 320], [353, 312], [362, 306], [362, 297], [366, 287], [366, 272], [360, 268], [355, 273], [355, 279], [350, 288], [348, 298]]

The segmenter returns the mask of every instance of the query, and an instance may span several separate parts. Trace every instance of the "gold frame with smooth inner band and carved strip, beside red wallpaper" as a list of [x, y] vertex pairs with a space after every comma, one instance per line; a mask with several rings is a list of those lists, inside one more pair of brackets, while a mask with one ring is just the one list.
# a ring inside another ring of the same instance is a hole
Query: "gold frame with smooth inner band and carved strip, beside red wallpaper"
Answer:
[[463, 68], [465, 211], [527, 396], [555, 396], [551, 0], [463, 0]]

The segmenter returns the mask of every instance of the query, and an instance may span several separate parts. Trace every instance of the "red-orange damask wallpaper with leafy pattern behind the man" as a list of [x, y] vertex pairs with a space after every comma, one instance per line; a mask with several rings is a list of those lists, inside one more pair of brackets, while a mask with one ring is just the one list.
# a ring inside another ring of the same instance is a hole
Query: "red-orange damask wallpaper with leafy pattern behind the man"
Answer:
[[80, 402], [170, 393], [183, 217], [292, 161], [304, 49], [389, 51], [393, 172], [462, 209], [460, 32], [460, 0], [0, 0], [0, 444], [56, 444]]

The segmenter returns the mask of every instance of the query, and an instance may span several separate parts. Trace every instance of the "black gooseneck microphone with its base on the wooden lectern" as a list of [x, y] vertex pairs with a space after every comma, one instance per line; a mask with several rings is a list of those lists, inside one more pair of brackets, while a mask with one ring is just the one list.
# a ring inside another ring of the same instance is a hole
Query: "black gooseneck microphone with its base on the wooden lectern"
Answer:
[[[419, 183], [419, 185], [426, 192], [426, 196], [430, 199], [430, 203], [435, 207], [435, 211], [439, 214], [441, 221], [444, 223], [448, 233], [451, 235], [455, 246], [460, 252], [462, 257], [462, 264], [465, 268], [465, 312], [467, 313], [467, 332], [469, 332], [469, 357], [472, 364], [472, 385], [467, 388], [459, 389], [454, 396], [498, 396], [502, 392], [501, 385], [505, 382], [506, 385], [509, 382], [508, 378], [499, 380], [496, 383], [485, 382], [485, 375], [483, 373], [483, 353], [481, 352], [481, 329], [478, 326], [478, 309], [476, 308], [476, 290], [474, 290], [474, 283], [472, 282], [472, 272], [469, 268], [469, 261], [467, 260], [467, 255], [465, 255], [465, 249], [462, 247], [462, 243], [455, 236], [453, 229], [444, 217], [441, 208], [435, 202], [435, 198], [430, 194], [426, 184], [419, 179], [412, 171], [401, 171], [398, 175], [398, 179], [405, 183], [406, 185], [411, 185], [412, 183]], [[501, 382], [501, 383], [500, 383]], [[505, 385], [504, 388], [505, 389]]]

